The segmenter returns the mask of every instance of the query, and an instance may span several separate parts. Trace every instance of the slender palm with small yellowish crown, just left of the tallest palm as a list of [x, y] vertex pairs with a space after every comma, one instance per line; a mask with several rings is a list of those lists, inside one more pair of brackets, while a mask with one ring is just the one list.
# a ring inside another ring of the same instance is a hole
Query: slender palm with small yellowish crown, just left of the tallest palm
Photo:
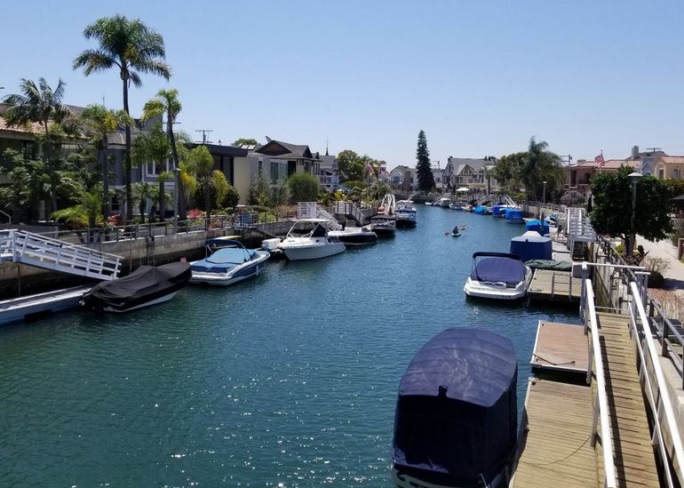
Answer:
[[84, 123], [98, 137], [98, 159], [102, 166], [102, 215], [109, 218], [109, 159], [108, 135], [116, 132], [123, 124], [132, 124], [132, 119], [123, 110], [107, 109], [104, 105], [89, 105], [83, 114]]

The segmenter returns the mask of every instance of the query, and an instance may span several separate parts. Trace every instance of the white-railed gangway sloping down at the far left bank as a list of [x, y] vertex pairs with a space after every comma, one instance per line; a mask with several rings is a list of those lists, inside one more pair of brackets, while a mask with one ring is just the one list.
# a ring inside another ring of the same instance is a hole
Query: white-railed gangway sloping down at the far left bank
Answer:
[[0, 231], [0, 261], [3, 260], [69, 275], [113, 280], [119, 274], [123, 258], [33, 232], [10, 229]]

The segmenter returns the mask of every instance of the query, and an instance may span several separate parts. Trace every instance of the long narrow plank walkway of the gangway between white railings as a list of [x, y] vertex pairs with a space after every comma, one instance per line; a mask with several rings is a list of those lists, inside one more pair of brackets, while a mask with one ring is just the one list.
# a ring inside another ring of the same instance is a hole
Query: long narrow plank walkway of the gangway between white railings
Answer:
[[[634, 347], [629, 336], [629, 317], [599, 313], [597, 319], [603, 368], [607, 376], [618, 486], [660, 486]], [[600, 450], [600, 441], [596, 445]], [[602, 484], [602, 464], [599, 464], [599, 480]]]

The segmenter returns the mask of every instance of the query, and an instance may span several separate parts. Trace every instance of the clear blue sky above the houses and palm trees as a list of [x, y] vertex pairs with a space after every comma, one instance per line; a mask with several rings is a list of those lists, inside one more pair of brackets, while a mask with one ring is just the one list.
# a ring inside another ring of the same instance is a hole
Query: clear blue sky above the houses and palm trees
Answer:
[[[113, 6], [116, 5], [116, 6]], [[143, 77], [131, 111], [179, 89], [179, 127], [224, 144], [265, 136], [415, 165], [502, 156], [530, 136], [561, 155], [684, 154], [682, 2], [38, 2], [3, 4], [0, 95], [20, 78], [68, 83], [67, 101], [120, 108], [115, 72], [71, 69], [91, 21], [159, 31], [173, 69]]]

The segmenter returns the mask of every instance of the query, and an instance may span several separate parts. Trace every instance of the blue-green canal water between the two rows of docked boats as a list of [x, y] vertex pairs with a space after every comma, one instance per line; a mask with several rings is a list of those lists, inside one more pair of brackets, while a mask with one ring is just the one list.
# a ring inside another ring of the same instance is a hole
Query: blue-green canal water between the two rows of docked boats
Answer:
[[522, 405], [537, 321], [577, 311], [465, 300], [473, 252], [524, 228], [418, 206], [370, 248], [0, 329], [0, 486], [389, 487], [399, 380], [447, 327], [513, 340]]

